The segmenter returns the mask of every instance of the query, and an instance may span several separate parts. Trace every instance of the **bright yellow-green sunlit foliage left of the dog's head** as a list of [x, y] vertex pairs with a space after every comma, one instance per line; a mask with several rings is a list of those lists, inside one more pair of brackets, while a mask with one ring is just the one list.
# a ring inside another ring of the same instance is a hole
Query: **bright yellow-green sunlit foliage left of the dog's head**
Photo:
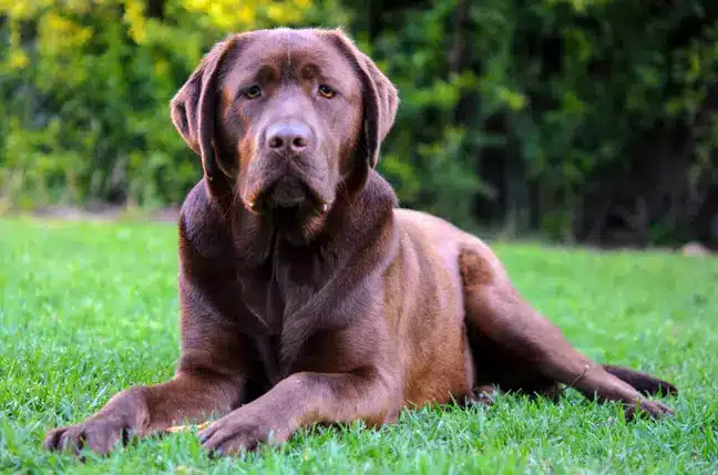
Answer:
[[153, 206], [181, 202], [201, 176], [168, 102], [202, 55], [228, 32], [315, 11], [309, 0], [1, 0], [0, 14], [0, 193], [21, 206]]

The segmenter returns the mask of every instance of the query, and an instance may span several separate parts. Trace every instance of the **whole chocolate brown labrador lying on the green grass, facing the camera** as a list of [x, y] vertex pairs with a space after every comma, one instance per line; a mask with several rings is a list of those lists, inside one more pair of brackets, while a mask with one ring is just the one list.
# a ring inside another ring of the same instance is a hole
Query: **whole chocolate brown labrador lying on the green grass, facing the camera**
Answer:
[[232, 35], [172, 101], [202, 158], [180, 217], [182, 355], [45, 446], [106, 453], [186, 420], [233, 454], [302, 426], [397, 420], [402, 407], [562, 385], [671, 413], [676, 389], [596, 364], [517, 293], [476, 237], [399, 209], [375, 172], [398, 95], [337, 30]]

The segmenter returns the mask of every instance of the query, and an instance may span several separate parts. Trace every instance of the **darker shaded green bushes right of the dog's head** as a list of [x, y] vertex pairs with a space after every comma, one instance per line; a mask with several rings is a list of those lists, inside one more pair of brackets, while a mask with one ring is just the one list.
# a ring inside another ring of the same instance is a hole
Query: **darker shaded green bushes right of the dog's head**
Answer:
[[[402, 91], [384, 163], [408, 205], [573, 239], [605, 230], [630, 202], [620, 226], [646, 240], [660, 240], [659, 228], [694, 234], [718, 184], [715, 2], [394, 8], [363, 28], [377, 31], [372, 52]], [[667, 179], [644, 173], [652, 166]]]

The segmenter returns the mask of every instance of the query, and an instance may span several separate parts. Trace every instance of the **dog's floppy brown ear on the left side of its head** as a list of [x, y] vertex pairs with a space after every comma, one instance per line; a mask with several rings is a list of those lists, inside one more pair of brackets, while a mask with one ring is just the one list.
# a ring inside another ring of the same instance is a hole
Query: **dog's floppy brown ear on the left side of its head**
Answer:
[[227, 173], [215, 158], [212, 140], [218, 97], [217, 75], [236, 41], [236, 37], [232, 37], [215, 44], [170, 103], [172, 122], [189, 148], [202, 157], [208, 180], [217, 171]]

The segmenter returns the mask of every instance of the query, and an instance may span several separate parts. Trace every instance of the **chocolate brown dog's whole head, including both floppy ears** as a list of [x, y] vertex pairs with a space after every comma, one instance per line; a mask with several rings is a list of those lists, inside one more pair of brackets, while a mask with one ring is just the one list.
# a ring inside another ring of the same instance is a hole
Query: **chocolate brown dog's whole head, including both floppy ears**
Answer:
[[397, 102], [340, 31], [259, 30], [215, 45], [172, 117], [207, 179], [224, 174], [237, 205], [306, 236], [361, 189]]

